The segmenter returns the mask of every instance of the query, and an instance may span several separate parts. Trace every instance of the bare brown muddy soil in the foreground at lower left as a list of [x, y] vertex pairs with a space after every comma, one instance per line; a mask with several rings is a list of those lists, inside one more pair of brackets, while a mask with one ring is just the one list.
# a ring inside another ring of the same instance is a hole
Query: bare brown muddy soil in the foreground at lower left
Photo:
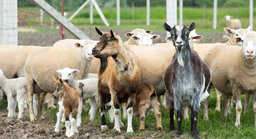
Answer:
[[[65, 125], [61, 124], [60, 133], [54, 132], [54, 125], [56, 120], [53, 120], [50, 114], [44, 111], [45, 120], [39, 122], [29, 121], [29, 111], [25, 109], [22, 121], [17, 121], [14, 118], [7, 117], [7, 110], [0, 110], [0, 138], [1, 139], [17, 139], [17, 138], [31, 138], [31, 139], [63, 139], [65, 136]], [[17, 117], [16, 112], [16, 117]], [[93, 121], [84, 122], [78, 128], [79, 133], [75, 133], [72, 137], [74, 139], [151, 139], [151, 138], [167, 138], [175, 137], [176, 133], [171, 133], [171, 136], [165, 132], [146, 130], [140, 134], [127, 134], [121, 129], [121, 132], [113, 130], [113, 126], [109, 129], [101, 131], [100, 125], [94, 124]], [[168, 128], [165, 128], [168, 132]], [[167, 136], [166, 136], [167, 135]], [[182, 137], [183, 138], [183, 137]], [[184, 138], [187, 138], [184, 136]]]

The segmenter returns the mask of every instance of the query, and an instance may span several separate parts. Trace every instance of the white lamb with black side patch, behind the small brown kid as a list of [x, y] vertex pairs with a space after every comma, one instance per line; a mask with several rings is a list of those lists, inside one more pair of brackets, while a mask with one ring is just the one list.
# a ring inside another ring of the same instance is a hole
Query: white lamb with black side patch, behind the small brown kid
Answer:
[[[89, 103], [91, 104], [91, 109], [89, 111], [90, 120], [95, 118], [95, 114], [97, 111], [97, 87], [98, 87], [98, 79], [96, 78], [89, 78], [83, 80], [75, 80], [74, 74], [78, 74], [80, 71], [76, 69], [64, 68], [62, 70], [57, 70], [57, 73], [61, 74], [61, 78], [63, 81], [68, 81], [68, 84], [74, 86], [78, 93], [79, 93], [79, 106], [78, 106], [78, 115], [77, 115], [77, 126], [80, 126], [81, 121], [81, 113], [83, 107], [83, 99], [88, 99]], [[60, 106], [61, 107], [61, 106]], [[60, 124], [60, 116], [61, 114], [57, 114], [57, 124], [55, 127], [55, 131], [59, 131]], [[63, 119], [64, 120], [64, 119]]]

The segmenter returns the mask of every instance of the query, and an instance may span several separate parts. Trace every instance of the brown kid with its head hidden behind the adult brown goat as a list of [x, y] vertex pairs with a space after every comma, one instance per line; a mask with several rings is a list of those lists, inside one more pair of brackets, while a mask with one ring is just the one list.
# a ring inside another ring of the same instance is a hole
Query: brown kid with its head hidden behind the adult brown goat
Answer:
[[160, 103], [157, 101], [155, 89], [152, 85], [143, 85], [136, 94], [136, 104], [133, 107], [133, 118], [140, 117], [140, 130], [145, 130], [145, 116], [153, 108], [158, 131], [162, 131], [161, 113], [159, 112]]

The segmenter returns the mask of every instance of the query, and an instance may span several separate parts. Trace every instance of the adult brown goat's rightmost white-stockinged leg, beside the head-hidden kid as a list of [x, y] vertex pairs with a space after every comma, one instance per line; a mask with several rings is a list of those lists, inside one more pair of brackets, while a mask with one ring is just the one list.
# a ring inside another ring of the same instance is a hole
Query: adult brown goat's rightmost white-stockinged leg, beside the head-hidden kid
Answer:
[[[132, 129], [132, 116], [133, 116], [133, 103], [135, 101], [136, 93], [128, 97], [127, 102], [127, 133], [133, 133]], [[145, 120], [145, 119], [144, 119]]]

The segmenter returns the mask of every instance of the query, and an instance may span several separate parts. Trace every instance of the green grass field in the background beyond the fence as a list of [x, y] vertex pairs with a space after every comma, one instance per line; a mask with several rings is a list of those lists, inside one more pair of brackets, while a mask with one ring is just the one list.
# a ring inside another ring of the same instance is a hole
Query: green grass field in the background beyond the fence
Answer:
[[[76, 8], [74, 8], [76, 9]], [[38, 8], [33, 7], [20, 7], [19, 10], [28, 11], [33, 13], [40, 13]], [[154, 31], [163, 31], [163, 23], [166, 22], [166, 7], [150, 7], [150, 26], [146, 26], [146, 7], [136, 7], [134, 9], [134, 19], [132, 19], [132, 10], [130, 7], [121, 7], [120, 18], [121, 25], [116, 26], [116, 9], [115, 8], [101, 8], [103, 14], [108, 20], [110, 27], [106, 27], [97, 11], [94, 9], [93, 17], [94, 23], [90, 24], [89, 20], [89, 7], [86, 6], [78, 15], [71, 20], [74, 25], [78, 27], [101, 27], [101, 28], [123, 28], [123, 29], [134, 29], [134, 28], [144, 28], [151, 29]], [[67, 11], [68, 18], [74, 11]], [[177, 10], [177, 13], [179, 10]], [[205, 17], [203, 18], [203, 13]], [[254, 16], [256, 14], [256, 9], [254, 8]], [[219, 7], [218, 8], [218, 19], [217, 19], [217, 29], [213, 30], [213, 8], [206, 8], [205, 11], [200, 7], [184, 7], [183, 8], [183, 24], [189, 25], [192, 22], [196, 23], [196, 30], [198, 33], [224, 33], [223, 28], [227, 27], [227, 23], [223, 18], [225, 15], [232, 15], [234, 18], [239, 18], [242, 22], [242, 28], [247, 28], [249, 26], [249, 8], [240, 7], [239, 13], [237, 7]], [[177, 19], [179, 14], [177, 14]], [[45, 16], [44, 21], [50, 24], [50, 17]], [[254, 18], [254, 27], [256, 27], [256, 18]], [[177, 20], [177, 22], [179, 22]], [[31, 26], [39, 26], [33, 23], [28, 23]], [[40, 30], [40, 32], [43, 32]]]

